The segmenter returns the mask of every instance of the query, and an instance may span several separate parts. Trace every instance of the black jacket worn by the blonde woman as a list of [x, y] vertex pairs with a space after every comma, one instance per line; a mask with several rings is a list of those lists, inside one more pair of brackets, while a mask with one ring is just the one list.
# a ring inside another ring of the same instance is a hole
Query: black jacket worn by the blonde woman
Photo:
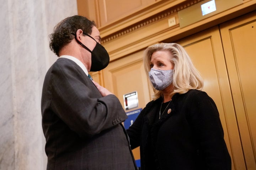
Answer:
[[132, 149], [140, 146], [142, 170], [231, 170], [219, 113], [206, 92], [175, 94], [159, 119], [161, 102], [149, 102], [127, 130]]

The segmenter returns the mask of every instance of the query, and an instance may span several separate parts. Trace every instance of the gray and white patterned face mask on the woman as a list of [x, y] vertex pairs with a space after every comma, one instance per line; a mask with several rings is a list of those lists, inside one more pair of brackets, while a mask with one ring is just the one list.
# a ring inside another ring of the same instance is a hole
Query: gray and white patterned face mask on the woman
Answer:
[[172, 83], [173, 70], [156, 70], [150, 69], [149, 79], [156, 90], [164, 90]]

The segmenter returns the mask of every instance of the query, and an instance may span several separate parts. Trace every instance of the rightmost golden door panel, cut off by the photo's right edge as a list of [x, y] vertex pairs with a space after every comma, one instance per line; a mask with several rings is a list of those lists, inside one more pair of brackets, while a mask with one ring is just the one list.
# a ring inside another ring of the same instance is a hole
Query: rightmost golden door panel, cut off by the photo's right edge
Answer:
[[256, 169], [256, 11], [220, 25], [247, 170]]

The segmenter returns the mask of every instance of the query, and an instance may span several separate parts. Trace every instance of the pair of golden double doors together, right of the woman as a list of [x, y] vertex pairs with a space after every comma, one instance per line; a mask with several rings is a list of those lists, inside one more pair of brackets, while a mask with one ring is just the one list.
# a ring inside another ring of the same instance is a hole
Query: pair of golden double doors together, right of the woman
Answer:
[[220, 112], [232, 169], [256, 169], [256, 12], [177, 41]]

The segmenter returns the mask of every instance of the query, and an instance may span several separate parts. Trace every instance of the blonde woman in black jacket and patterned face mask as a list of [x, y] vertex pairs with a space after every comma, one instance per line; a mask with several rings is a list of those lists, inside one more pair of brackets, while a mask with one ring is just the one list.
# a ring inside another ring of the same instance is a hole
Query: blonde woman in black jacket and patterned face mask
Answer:
[[140, 146], [142, 170], [230, 170], [217, 107], [185, 49], [161, 43], [144, 52], [154, 87], [149, 102], [127, 130]]

